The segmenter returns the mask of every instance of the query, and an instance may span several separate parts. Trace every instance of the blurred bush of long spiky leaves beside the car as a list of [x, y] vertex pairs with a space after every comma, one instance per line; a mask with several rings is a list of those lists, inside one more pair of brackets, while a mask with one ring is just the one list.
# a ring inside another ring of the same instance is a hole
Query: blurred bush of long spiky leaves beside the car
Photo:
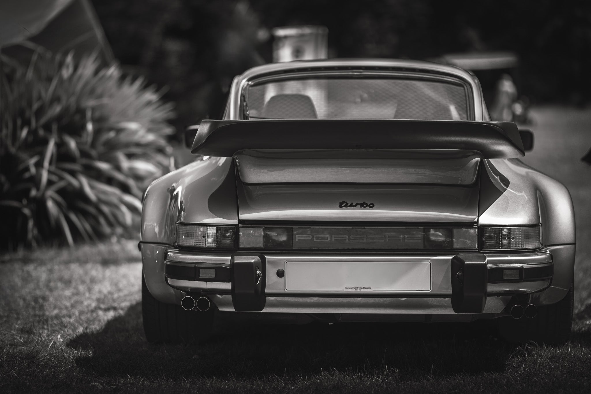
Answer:
[[170, 104], [96, 56], [2, 58], [0, 248], [123, 235], [173, 170]]

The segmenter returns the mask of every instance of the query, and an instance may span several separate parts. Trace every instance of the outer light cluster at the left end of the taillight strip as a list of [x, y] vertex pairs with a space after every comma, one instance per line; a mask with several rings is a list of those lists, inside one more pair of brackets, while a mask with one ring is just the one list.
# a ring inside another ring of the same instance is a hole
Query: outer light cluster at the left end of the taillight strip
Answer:
[[236, 249], [236, 226], [177, 224], [177, 246]]

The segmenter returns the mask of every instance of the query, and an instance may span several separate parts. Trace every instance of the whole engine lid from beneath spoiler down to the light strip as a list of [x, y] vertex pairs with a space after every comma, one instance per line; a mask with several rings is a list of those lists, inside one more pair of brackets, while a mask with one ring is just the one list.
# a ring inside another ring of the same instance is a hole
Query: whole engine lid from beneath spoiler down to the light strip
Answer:
[[235, 159], [240, 220], [478, 219], [475, 151], [249, 149]]

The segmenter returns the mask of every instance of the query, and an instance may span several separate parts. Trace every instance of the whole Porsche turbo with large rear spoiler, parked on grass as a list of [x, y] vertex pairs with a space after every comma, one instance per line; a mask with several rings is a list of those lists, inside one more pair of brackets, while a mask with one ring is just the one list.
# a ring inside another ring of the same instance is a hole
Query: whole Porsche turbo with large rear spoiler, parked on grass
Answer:
[[148, 341], [232, 319], [489, 319], [509, 341], [569, 338], [569, 192], [519, 159], [531, 132], [491, 122], [467, 71], [267, 64], [192, 129], [199, 158], [144, 196]]

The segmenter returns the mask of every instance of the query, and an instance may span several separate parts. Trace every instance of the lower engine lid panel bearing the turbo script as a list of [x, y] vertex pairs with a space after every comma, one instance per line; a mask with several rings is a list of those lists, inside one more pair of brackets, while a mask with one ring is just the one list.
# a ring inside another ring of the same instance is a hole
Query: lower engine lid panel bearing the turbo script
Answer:
[[[241, 220], [476, 222], [478, 185], [264, 184], [239, 185]], [[374, 204], [343, 208], [340, 201]]]

